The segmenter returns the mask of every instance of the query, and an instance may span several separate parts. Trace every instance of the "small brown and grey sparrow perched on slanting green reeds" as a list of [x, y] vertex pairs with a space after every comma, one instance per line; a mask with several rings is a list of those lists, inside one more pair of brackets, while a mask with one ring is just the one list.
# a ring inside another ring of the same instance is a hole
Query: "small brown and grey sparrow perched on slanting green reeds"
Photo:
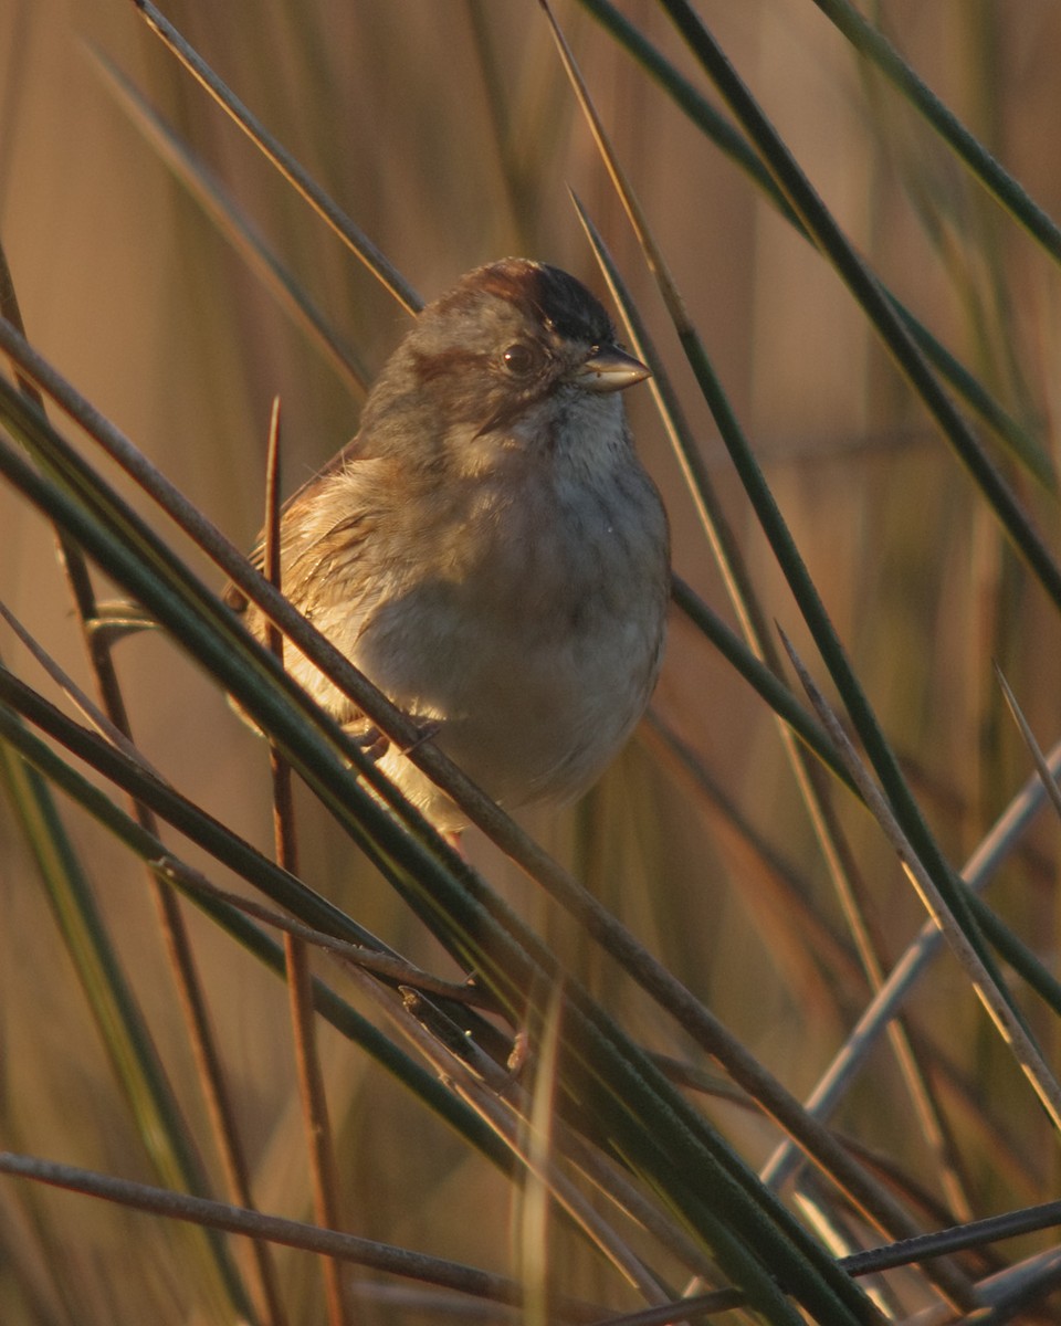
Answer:
[[[655, 686], [667, 517], [619, 395], [647, 377], [573, 276], [480, 267], [420, 313], [357, 436], [284, 508], [285, 595], [508, 809], [584, 792]], [[285, 666], [363, 732], [290, 643]], [[379, 766], [438, 829], [466, 826], [394, 745]]]

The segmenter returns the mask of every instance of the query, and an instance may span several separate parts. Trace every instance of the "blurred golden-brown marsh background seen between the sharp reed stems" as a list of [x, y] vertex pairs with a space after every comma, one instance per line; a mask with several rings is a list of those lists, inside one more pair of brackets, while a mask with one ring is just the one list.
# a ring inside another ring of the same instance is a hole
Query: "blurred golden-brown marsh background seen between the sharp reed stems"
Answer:
[[[1049, 212], [1061, 213], [1057, 5], [881, 0], [871, 8], [927, 82]], [[622, 9], [702, 86], [653, 4], [630, 0]], [[702, 0], [698, 9], [859, 249], [1053, 450], [1060, 306], [1049, 261], [908, 107], [859, 69], [808, 0]], [[516, 252], [554, 261], [603, 290], [569, 202], [573, 188], [672, 365], [768, 615], [809, 647], [703, 402], [690, 390], [537, 5], [171, 0], [166, 13], [424, 297], [481, 261]], [[557, 0], [557, 16], [833, 619], [934, 827], [960, 863], [1028, 772], [991, 660], [1004, 667], [1042, 743], [1052, 741], [1061, 719], [1057, 615], [1015, 564], [826, 264], [578, 4]], [[355, 430], [361, 391], [174, 178], [115, 94], [107, 65], [223, 183], [370, 373], [407, 316], [178, 68], [131, 4], [0, 0], [0, 237], [28, 334], [218, 524], [249, 542], [261, 520], [273, 395], [282, 399], [290, 488]], [[728, 615], [649, 392], [633, 392], [630, 408], [671, 512], [675, 566]], [[1027, 479], [1015, 481], [1056, 546], [1056, 507]], [[88, 680], [50, 530], [7, 489], [0, 489], [0, 597]], [[0, 650], [48, 690], [5, 630]], [[134, 732], [150, 760], [268, 847], [264, 752], [224, 699], [160, 638], [125, 644], [119, 666]], [[655, 708], [790, 866], [813, 907], [838, 924], [771, 715], [679, 619]], [[867, 819], [847, 805], [841, 813], [894, 957], [920, 922], [919, 904]], [[643, 736], [582, 808], [532, 823], [779, 1077], [805, 1091], [845, 1030], [850, 1006], [842, 993], [829, 994], [805, 943], [792, 941], [782, 904], [719, 814]], [[142, 876], [77, 814], [69, 823], [176, 1089], [200, 1118]], [[347, 841], [309, 805], [302, 841], [314, 887], [399, 949], [439, 961], [386, 886], [351, 859]], [[1040, 829], [999, 886], [1003, 914], [1048, 957], [1057, 943], [1054, 849], [1054, 826]], [[676, 1034], [659, 1032], [658, 1014], [629, 987], [611, 988], [610, 971], [580, 953], [568, 923], [549, 915], [489, 845], [471, 835], [468, 850], [566, 945], [635, 1036], [690, 1053]], [[191, 926], [252, 1150], [256, 1196], [264, 1209], [298, 1213], [306, 1180], [282, 988], [208, 924], [192, 918]], [[858, 992], [849, 993], [854, 1002]], [[989, 1207], [1032, 1200], [1036, 1180], [1049, 1192], [1056, 1148], [1045, 1150], [1034, 1107], [947, 960], [916, 994], [914, 1010], [947, 1046], [955, 1074], [980, 1083], [973, 1097], [991, 1081], [996, 1105], [1013, 1102], [1012, 1115], [1005, 1109], [996, 1115], [1013, 1139], [1012, 1191], [999, 1187], [985, 1159], [972, 1176], [984, 1200]], [[1048, 1049], [1056, 1049], [1056, 1032], [1040, 1022]], [[5, 1146], [146, 1176], [19, 829], [3, 806], [0, 1036]], [[501, 1180], [464, 1159], [347, 1044], [333, 1037], [325, 1048], [349, 1175], [347, 1228], [504, 1269], [509, 1197]], [[853, 1098], [842, 1122], [890, 1150], [908, 1142], [907, 1120], [883, 1054], [877, 1067], [871, 1089]], [[955, 1111], [963, 1114], [956, 1105]], [[716, 1118], [753, 1162], [765, 1158], [773, 1134], [764, 1124], [725, 1107]], [[910, 1154], [916, 1156], [915, 1143]], [[45, 1233], [34, 1235], [38, 1219]], [[23, 1315], [11, 1318], [17, 1321], [34, 1319], [23, 1306], [31, 1302], [46, 1306], [54, 1321], [190, 1319], [174, 1237], [146, 1217], [88, 1199], [29, 1193], [5, 1180], [3, 1260], [20, 1269], [0, 1269], [0, 1299], [4, 1293], [17, 1299]], [[115, 1282], [111, 1272], [127, 1264], [130, 1244], [147, 1240], [156, 1249], [150, 1268], [141, 1261]], [[40, 1258], [49, 1241], [69, 1258], [84, 1315], [69, 1315]], [[293, 1301], [313, 1303], [310, 1260], [292, 1254], [284, 1266]], [[4, 1277], [11, 1277], [7, 1290]], [[592, 1284], [581, 1288], [590, 1292]]]

